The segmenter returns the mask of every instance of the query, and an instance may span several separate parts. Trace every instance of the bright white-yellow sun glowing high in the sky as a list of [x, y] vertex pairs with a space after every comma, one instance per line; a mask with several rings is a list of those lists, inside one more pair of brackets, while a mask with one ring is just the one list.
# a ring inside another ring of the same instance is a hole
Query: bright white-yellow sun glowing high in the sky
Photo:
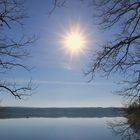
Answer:
[[61, 44], [71, 56], [85, 52], [87, 39], [79, 24], [72, 25], [62, 36]]

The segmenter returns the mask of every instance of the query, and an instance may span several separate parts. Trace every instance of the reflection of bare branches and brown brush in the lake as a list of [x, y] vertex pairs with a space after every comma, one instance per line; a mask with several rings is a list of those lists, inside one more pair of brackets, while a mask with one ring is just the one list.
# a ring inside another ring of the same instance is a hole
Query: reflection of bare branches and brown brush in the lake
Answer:
[[122, 140], [140, 139], [140, 119], [134, 114], [128, 115], [124, 120], [114, 120], [107, 123], [108, 128]]

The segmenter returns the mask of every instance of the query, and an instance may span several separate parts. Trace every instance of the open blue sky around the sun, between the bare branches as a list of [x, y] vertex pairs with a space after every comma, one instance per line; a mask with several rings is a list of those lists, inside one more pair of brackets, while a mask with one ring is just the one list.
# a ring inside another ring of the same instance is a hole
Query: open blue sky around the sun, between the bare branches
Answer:
[[[2, 105], [5, 106], [33, 106], [33, 107], [92, 107], [92, 106], [121, 106], [119, 96], [112, 94], [118, 86], [115, 84], [116, 74], [109, 79], [96, 77], [87, 83], [90, 76], [85, 77], [83, 71], [88, 70], [92, 53], [101, 42], [110, 39], [116, 30], [103, 32], [94, 23], [94, 10], [81, 3], [71, 0], [66, 7], [52, 8], [52, 0], [29, 0], [25, 3], [29, 15], [24, 20], [24, 27], [13, 27], [11, 36], [19, 38], [21, 35], [39, 36], [38, 41], [27, 48], [30, 57], [23, 63], [34, 67], [31, 72], [13, 69], [3, 78], [24, 84], [30, 78], [38, 85], [36, 93], [28, 100], [15, 100], [11, 95], [2, 95]], [[83, 53], [73, 55], [66, 53], [59, 43], [61, 36], [71, 25], [79, 24], [90, 40]]]

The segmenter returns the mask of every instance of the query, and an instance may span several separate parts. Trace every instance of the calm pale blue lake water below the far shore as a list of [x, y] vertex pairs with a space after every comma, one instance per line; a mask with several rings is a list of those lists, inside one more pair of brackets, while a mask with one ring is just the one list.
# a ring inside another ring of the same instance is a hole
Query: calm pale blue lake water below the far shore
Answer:
[[15, 118], [0, 119], [0, 140], [121, 140], [103, 118]]

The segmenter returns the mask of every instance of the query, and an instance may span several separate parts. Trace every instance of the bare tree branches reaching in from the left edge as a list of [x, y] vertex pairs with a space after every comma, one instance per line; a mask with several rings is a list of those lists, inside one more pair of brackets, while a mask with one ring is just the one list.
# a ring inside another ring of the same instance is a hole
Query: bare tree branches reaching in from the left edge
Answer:
[[[9, 37], [7, 32], [13, 31], [16, 24], [22, 25], [22, 19], [26, 17], [24, 12], [24, 2], [22, 0], [0, 0], [0, 74], [5, 74], [12, 68], [28, 67], [21, 63], [21, 59], [28, 56], [26, 46], [35, 41], [35, 37], [28, 39], [21, 38], [19, 41]], [[9, 30], [9, 31], [8, 31]], [[0, 92], [10, 93], [15, 98], [22, 99], [29, 96], [32, 90], [32, 82], [21, 87], [16, 82], [0, 80]]]

